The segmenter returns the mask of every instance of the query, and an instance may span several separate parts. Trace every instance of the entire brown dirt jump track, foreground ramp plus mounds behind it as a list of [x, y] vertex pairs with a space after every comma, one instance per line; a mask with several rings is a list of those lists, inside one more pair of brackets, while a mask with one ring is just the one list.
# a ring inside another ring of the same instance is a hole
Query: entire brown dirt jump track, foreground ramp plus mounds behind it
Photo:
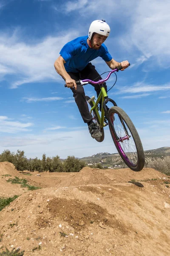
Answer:
[[[170, 177], [154, 169], [41, 173], [0, 163], [0, 247], [24, 256], [170, 256]], [[41, 189], [28, 191], [9, 177]]]

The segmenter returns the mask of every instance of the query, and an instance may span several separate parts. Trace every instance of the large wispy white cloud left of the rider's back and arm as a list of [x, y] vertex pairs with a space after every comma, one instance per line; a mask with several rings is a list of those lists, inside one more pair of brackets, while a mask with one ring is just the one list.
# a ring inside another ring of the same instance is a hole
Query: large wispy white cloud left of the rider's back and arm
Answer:
[[[62, 78], [54, 69], [61, 46], [78, 36], [78, 32], [65, 32], [65, 36], [48, 37], [35, 44], [21, 41], [15, 30], [12, 36], [0, 34], [0, 73], [16, 74], [11, 88], [31, 82], [56, 81]], [[34, 42], [32, 42], [34, 43]]]

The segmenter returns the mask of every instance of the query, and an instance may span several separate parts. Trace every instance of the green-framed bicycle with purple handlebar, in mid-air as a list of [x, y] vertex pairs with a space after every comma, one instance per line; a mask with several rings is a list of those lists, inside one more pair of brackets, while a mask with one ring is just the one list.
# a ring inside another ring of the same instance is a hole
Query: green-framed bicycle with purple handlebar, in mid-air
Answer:
[[[108, 94], [106, 93], [103, 85], [103, 83], [110, 78], [112, 73], [115, 73], [116, 71], [118, 72], [121, 69], [122, 67], [120, 66], [119, 68], [111, 70], [105, 79], [100, 79], [99, 81], [84, 79], [76, 81], [76, 84], [77, 86], [83, 86], [88, 83], [99, 84], [101, 92], [96, 99], [96, 102], [95, 96], [92, 96], [91, 98], [89, 96], [85, 96], [88, 102], [89, 111], [93, 116], [93, 121], [96, 122], [102, 133], [102, 136], [99, 138], [95, 138], [95, 140], [97, 142], [102, 142], [104, 140], [104, 127], [108, 125], [111, 132], [111, 137], [117, 151], [119, 152], [119, 155], [122, 157], [122, 160], [131, 170], [139, 172], [144, 167], [144, 150], [139, 134], [136, 131], [133, 122], [131, 121], [129, 116], [127, 116], [127, 113], [125, 113], [122, 108], [119, 108], [113, 99], [110, 99], [108, 97]], [[113, 86], [115, 84], [116, 81]], [[98, 107], [100, 102], [102, 102], [101, 115], [99, 114]], [[113, 104], [113, 107], [111, 107], [109, 110], [106, 107], [106, 104], [108, 102], [111, 102]]]

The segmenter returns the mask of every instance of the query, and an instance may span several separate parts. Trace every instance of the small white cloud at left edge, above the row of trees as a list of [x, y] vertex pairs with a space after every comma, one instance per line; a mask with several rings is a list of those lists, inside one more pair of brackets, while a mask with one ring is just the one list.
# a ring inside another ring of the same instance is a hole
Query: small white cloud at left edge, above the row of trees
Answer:
[[21, 131], [28, 131], [28, 127], [32, 126], [33, 123], [21, 123], [18, 121], [9, 121], [7, 116], [0, 116], [0, 132], [3, 133], [17, 133]]

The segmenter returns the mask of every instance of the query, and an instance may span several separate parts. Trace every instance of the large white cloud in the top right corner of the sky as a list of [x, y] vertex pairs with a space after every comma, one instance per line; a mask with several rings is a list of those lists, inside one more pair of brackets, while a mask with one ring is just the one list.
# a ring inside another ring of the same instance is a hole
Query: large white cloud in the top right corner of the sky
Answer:
[[[164, 68], [170, 66], [169, 10], [169, 0], [137, 1], [131, 13], [130, 24], [127, 23], [127, 35], [122, 37], [122, 43], [127, 41], [130, 47], [134, 45], [145, 58], [152, 56], [152, 63], [156, 60]], [[157, 65], [150, 65], [150, 68], [156, 67]]]

